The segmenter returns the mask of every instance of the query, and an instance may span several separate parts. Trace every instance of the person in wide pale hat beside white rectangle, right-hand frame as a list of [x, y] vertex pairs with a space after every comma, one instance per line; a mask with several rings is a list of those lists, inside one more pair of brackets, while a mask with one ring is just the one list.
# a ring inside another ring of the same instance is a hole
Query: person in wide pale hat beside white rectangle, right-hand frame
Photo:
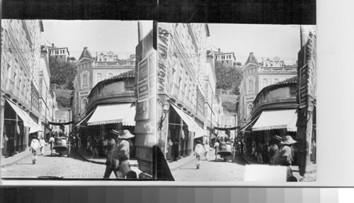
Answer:
[[282, 138], [282, 141], [280, 144], [282, 146], [280, 147], [277, 160], [276, 160], [276, 165], [280, 166], [291, 166], [292, 161], [293, 161], [293, 149], [292, 149], [292, 144], [295, 144], [297, 141], [292, 139], [290, 135], [287, 135]]

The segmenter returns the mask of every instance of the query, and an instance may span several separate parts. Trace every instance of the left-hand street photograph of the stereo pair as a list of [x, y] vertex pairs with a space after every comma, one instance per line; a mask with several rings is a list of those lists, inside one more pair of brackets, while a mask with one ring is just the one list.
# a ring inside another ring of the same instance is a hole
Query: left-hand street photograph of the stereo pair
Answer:
[[153, 21], [1, 20], [1, 184], [161, 178], [154, 30]]

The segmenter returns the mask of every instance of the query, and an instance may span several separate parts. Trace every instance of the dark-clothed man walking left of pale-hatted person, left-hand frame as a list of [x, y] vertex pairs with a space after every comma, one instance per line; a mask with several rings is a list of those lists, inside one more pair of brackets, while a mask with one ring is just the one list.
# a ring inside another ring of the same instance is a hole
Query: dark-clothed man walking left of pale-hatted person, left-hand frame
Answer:
[[[117, 134], [119, 134], [118, 131]], [[108, 134], [108, 142], [107, 142], [107, 159], [105, 161], [105, 174], [103, 175], [103, 178], [110, 178], [110, 174], [113, 172], [115, 177], [118, 178], [117, 175], [117, 170], [118, 170], [118, 160], [113, 160], [116, 144], [115, 144], [115, 138], [117, 137], [117, 134], [115, 132], [110, 132]]]

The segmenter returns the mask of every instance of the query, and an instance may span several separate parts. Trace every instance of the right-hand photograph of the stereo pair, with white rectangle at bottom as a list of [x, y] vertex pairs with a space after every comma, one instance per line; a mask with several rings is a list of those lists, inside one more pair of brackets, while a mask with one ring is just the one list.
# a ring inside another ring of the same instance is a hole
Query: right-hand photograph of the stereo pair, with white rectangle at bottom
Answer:
[[157, 32], [157, 141], [174, 180], [316, 179], [316, 26]]

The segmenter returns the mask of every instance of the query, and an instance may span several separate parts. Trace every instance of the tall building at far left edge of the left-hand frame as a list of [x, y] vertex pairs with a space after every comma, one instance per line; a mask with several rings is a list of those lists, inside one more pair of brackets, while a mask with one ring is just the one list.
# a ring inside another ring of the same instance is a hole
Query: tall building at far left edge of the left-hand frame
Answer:
[[1, 21], [2, 154], [8, 153], [10, 143], [15, 152], [26, 150], [29, 133], [38, 132], [41, 32], [42, 21]]

